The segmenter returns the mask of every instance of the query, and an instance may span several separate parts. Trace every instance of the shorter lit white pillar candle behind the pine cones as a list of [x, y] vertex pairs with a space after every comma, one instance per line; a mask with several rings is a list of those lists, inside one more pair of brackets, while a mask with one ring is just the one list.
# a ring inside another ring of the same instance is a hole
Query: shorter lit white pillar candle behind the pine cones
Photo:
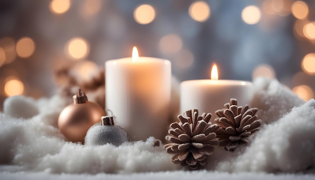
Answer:
[[[216, 76], [213, 78], [213, 76]], [[241, 80], [218, 80], [216, 65], [211, 79], [187, 80], [181, 83], [181, 112], [198, 109], [199, 113], [211, 113], [224, 108], [231, 98], [238, 100], [238, 106], [249, 105], [253, 98], [253, 84]]]

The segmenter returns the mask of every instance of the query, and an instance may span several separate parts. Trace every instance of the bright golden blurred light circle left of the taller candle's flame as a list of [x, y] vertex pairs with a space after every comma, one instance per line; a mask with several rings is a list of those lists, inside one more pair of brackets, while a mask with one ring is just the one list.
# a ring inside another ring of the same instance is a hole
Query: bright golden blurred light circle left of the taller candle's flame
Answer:
[[66, 51], [71, 58], [82, 59], [87, 57], [90, 48], [88, 42], [83, 38], [72, 38], [66, 44]]

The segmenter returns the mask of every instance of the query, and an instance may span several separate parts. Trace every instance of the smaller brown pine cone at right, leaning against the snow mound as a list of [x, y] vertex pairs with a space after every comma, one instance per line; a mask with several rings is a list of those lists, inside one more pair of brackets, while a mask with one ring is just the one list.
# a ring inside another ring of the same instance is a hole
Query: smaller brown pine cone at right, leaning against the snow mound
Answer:
[[261, 120], [257, 120], [257, 108], [249, 108], [246, 105], [238, 107], [236, 99], [230, 99], [226, 103], [226, 109], [217, 110], [215, 114], [219, 117], [214, 120], [220, 128], [215, 132], [219, 139], [219, 146], [225, 146], [227, 151], [234, 151], [239, 145], [247, 144], [248, 137], [258, 131]]

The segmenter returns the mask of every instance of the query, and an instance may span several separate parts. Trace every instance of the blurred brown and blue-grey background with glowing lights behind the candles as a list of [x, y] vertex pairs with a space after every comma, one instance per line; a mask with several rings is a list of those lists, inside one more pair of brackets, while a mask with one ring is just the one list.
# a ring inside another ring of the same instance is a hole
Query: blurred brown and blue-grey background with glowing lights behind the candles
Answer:
[[[179, 81], [277, 78], [315, 90], [315, 1], [1, 0], [0, 110], [9, 96], [50, 97], [56, 71], [89, 79], [106, 60], [169, 59]], [[59, 84], [58, 84], [59, 83]]]

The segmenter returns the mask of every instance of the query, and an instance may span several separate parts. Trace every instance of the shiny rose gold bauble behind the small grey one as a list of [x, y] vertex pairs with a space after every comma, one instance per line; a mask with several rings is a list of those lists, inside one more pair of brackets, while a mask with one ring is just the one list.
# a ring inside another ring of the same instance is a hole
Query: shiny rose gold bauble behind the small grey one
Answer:
[[73, 96], [73, 104], [61, 111], [58, 128], [68, 141], [84, 144], [87, 131], [91, 126], [99, 123], [102, 116], [105, 116], [103, 109], [89, 102], [84, 92], [79, 89], [77, 95]]

